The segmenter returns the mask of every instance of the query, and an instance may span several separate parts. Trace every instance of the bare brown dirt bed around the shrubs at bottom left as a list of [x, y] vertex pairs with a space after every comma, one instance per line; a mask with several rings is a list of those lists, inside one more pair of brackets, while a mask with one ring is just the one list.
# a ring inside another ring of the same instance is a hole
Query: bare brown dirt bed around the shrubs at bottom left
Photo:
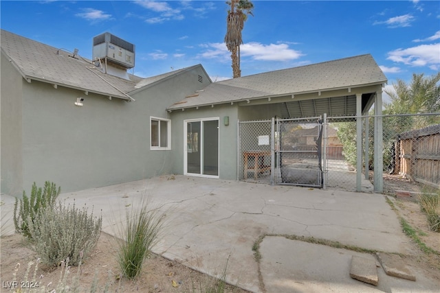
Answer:
[[[30, 268], [28, 278], [25, 277], [28, 263], [30, 261], [35, 263], [36, 258], [36, 254], [29, 248], [27, 239], [23, 236], [15, 234], [1, 237], [2, 288], [0, 292], [10, 292], [8, 287], [12, 281], [18, 281], [19, 286], [39, 286], [39, 290], [26, 289], [21, 292], [41, 292], [43, 287], [46, 289], [43, 292], [50, 292], [51, 288], [56, 288], [61, 280], [61, 267], [47, 268], [40, 264], [34, 272], [34, 264]], [[14, 279], [13, 274], [17, 263], [20, 263], [20, 266], [17, 277]], [[115, 257], [115, 239], [107, 233], [101, 233], [94, 253], [80, 266], [80, 290], [78, 292], [90, 292], [94, 281], [98, 281], [97, 292], [104, 292], [106, 286], [109, 286], [108, 292], [206, 292], [206, 288], [209, 288], [209, 285], [215, 281], [206, 274], [158, 255], [151, 255], [146, 259], [141, 276], [133, 281], [119, 278], [119, 272]], [[78, 267], [70, 268], [66, 284], [73, 285], [77, 275]], [[28, 283], [21, 283], [21, 281], [28, 281]], [[228, 285], [225, 292], [248, 291]]]

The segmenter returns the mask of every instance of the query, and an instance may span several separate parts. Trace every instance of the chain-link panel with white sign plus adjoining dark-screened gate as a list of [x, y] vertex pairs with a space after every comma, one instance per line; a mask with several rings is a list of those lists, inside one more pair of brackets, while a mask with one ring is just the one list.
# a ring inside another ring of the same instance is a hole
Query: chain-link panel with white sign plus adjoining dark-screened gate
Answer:
[[239, 121], [239, 180], [323, 187], [322, 130], [321, 117]]

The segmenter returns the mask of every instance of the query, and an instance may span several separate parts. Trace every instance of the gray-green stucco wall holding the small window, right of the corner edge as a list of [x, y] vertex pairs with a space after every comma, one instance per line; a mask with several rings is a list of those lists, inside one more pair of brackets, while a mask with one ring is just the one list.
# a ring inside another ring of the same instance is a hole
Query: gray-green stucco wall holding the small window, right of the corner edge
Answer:
[[[50, 180], [63, 191], [125, 183], [174, 170], [173, 150], [150, 150], [150, 117], [208, 83], [200, 69], [135, 93], [135, 102], [32, 81], [23, 86], [23, 188]], [[85, 98], [75, 106], [76, 97]], [[172, 123], [173, 127], [173, 123]], [[172, 139], [173, 143], [174, 139]]]

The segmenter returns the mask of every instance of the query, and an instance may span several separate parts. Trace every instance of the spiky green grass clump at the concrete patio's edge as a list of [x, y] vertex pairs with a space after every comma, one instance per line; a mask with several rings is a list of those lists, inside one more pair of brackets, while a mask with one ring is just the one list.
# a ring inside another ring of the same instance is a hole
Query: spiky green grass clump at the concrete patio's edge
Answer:
[[120, 231], [117, 259], [122, 275], [134, 279], [151, 252], [151, 248], [159, 240], [164, 227], [164, 217], [157, 210], [148, 209], [148, 202], [132, 204], [126, 211], [126, 223]]

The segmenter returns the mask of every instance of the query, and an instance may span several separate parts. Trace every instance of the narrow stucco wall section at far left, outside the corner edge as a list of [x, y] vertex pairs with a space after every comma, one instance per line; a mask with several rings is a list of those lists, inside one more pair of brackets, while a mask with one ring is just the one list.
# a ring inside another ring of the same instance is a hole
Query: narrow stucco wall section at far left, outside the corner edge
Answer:
[[21, 88], [27, 82], [3, 54], [0, 76], [1, 193], [19, 196], [23, 193]]

